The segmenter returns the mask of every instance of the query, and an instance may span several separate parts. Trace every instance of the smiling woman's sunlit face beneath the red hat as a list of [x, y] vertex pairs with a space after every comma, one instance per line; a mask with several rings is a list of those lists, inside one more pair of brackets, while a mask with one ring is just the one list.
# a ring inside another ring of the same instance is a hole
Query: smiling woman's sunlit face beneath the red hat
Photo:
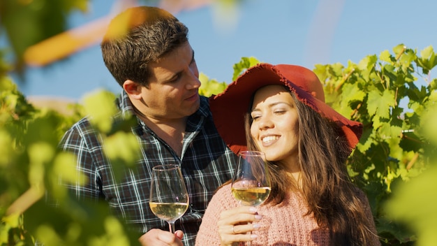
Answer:
[[299, 128], [297, 108], [290, 92], [268, 85], [255, 92], [251, 136], [268, 161], [295, 163]]

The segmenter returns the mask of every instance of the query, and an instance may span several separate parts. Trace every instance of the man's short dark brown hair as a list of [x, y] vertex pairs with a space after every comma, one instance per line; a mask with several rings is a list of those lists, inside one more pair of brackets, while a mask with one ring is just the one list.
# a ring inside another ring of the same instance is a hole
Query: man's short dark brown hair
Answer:
[[103, 61], [123, 86], [133, 80], [148, 85], [149, 63], [188, 42], [188, 28], [167, 11], [149, 6], [128, 8], [108, 26], [101, 50]]

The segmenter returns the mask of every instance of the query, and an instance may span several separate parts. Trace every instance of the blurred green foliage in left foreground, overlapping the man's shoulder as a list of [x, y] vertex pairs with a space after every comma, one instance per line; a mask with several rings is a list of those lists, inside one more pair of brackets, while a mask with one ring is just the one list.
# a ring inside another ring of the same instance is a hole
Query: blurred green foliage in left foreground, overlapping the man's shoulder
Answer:
[[75, 157], [57, 148], [74, 122], [84, 115], [97, 119], [92, 122], [100, 129], [104, 150], [122, 168], [139, 150], [135, 136], [128, 134], [133, 118], [113, 117], [110, 92], [84, 96], [83, 107], [77, 104], [75, 113], [61, 115], [35, 108], [9, 78], [0, 79], [1, 245], [33, 245], [36, 238], [44, 245], [135, 245], [138, 235], [125, 231], [107, 204], [79, 203], [57, 183], [59, 175], [71, 182], [77, 178]]

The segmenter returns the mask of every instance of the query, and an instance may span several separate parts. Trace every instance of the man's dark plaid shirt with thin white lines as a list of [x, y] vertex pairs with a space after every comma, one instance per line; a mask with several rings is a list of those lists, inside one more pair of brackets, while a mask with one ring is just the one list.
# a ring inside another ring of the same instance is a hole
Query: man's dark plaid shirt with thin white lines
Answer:
[[[121, 115], [133, 113], [125, 92], [117, 104]], [[142, 147], [142, 157], [135, 168], [124, 168], [121, 181], [114, 180], [112, 164], [105, 158], [101, 138], [91, 128], [87, 117], [74, 124], [61, 140], [63, 150], [77, 155], [77, 170], [90, 180], [87, 184], [66, 184], [83, 199], [105, 199], [110, 207], [133, 229], [145, 233], [153, 228], [168, 231], [167, 222], [158, 219], [149, 208], [151, 168], [161, 164], [179, 164], [185, 179], [190, 206], [176, 222], [184, 231], [184, 245], [194, 245], [202, 216], [214, 191], [232, 178], [236, 156], [218, 135], [207, 98], [201, 96], [200, 108], [188, 117], [182, 157], [138, 120], [132, 132]], [[117, 179], [119, 180], [119, 179]]]

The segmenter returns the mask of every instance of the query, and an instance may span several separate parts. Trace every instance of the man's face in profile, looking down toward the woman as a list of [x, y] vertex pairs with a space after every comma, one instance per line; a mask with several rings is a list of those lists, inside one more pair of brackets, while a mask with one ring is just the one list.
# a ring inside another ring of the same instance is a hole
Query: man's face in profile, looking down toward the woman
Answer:
[[150, 120], [178, 120], [192, 115], [200, 106], [199, 71], [194, 52], [186, 42], [158, 61], [149, 64], [149, 85], [142, 87], [143, 106]]

